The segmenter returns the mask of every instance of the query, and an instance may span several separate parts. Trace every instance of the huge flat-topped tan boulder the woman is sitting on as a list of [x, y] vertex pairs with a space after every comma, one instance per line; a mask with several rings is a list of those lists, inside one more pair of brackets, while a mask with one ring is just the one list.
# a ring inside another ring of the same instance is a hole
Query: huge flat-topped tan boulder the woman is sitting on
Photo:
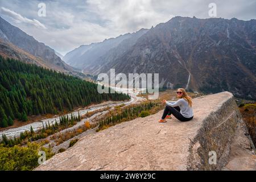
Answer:
[[[189, 122], [172, 118], [158, 123], [160, 111], [87, 135], [36, 170], [221, 169], [229, 162], [238, 123], [243, 123], [233, 95], [195, 98], [193, 110]], [[216, 164], [209, 164], [210, 151], [216, 152]]]

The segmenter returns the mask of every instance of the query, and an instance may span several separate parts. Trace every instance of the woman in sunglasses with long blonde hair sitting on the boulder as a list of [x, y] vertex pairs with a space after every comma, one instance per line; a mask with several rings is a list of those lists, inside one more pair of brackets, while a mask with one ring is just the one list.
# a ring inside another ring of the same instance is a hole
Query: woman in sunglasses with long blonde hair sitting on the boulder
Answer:
[[193, 118], [192, 98], [188, 96], [185, 89], [177, 89], [177, 98], [179, 100], [176, 102], [162, 101], [163, 104], [166, 104], [166, 108], [164, 109], [162, 119], [159, 119], [160, 123], [164, 123], [167, 118], [171, 118], [171, 114], [180, 121], [189, 121]]

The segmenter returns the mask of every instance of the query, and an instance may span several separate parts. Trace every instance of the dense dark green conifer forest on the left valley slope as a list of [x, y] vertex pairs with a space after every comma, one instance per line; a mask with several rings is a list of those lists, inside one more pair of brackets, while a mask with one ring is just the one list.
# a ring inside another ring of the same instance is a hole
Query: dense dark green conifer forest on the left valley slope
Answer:
[[97, 84], [34, 64], [0, 56], [0, 127], [30, 115], [57, 114], [102, 101], [127, 100], [119, 93], [97, 92]]

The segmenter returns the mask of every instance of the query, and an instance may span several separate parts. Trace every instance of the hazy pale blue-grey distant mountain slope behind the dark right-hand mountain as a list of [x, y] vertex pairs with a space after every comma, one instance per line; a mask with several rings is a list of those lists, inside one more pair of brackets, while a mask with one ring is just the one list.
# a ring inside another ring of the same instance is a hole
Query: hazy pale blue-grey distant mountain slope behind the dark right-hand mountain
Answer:
[[[136, 40], [145, 34], [148, 30], [142, 28], [133, 34], [120, 35], [117, 38], [105, 39], [103, 42], [83, 45], [68, 52], [63, 60], [69, 65], [84, 69], [85, 72], [95, 72], [97, 65], [112, 61], [116, 56], [133, 46]], [[111, 52], [111, 53], [109, 53]], [[106, 56], [113, 55], [113, 56]], [[91, 71], [89, 71], [91, 70]]]

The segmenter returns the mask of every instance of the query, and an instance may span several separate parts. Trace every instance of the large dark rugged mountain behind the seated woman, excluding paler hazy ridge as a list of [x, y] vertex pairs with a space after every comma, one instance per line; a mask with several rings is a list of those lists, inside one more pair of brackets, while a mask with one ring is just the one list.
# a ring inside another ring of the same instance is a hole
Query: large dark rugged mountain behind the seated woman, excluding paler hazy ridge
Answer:
[[238, 96], [254, 94], [251, 96], [255, 98], [256, 23], [252, 23], [251, 32], [246, 30], [249, 22], [241, 22], [245, 26], [240, 28], [243, 41], [234, 31], [237, 20], [172, 19], [148, 31], [109, 68], [122, 73], [158, 72], [160, 79], [167, 78], [176, 87], [188, 85], [205, 92], [230, 90]]

